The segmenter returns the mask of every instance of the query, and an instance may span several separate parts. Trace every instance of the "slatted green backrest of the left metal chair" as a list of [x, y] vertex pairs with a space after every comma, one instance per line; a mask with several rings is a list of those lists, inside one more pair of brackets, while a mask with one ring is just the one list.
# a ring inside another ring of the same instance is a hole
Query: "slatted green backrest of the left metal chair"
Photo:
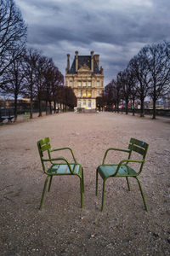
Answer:
[[43, 158], [44, 152], [48, 153], [48, 158], [49, 159], [51, 158], [51, 155], [50, 155], [51, 145], [49, 143], [49, 138], [45, 137], [42, 140], [38, 141], [37, 142], [37, 148], [38, 148], [38, 152], [40, 154], [40, 159], [41, 159], [41, 162], [42, 162], [42, 169], [45, 172], [46, 171], [45, 170], [45, 165], [44, 165], [44, 162], [42, 161], [42, 158]]

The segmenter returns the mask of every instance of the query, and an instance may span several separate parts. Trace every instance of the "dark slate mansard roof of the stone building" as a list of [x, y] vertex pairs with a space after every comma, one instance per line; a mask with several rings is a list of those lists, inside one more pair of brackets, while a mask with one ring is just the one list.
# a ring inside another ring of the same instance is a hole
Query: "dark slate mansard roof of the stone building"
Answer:
[[[78, 56], [78, 69], [80, 67], [82, 67], [84, 64], [87, 65], [89, 67], [89, 69], [91, 70], [91, 56], [89, 56], [89, 55]], [[76, 56], [74, 58], [74, 61], [72, 62], [71, 68], [69, 69], [68, 73], [77, 73], [76, 72]], [[99, 71], [99, 67], [95, 60], [94, 60], [94, 72], [93, 73], [101, 73]]]

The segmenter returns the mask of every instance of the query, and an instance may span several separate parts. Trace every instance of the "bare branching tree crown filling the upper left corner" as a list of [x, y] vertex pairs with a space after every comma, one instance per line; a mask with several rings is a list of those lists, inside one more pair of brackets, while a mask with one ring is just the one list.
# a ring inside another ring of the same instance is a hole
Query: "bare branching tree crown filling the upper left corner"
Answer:
[[26, 25], [20, 9], [13, 0], [0, 0], [0, 76], [23, 52], [25, 44]]

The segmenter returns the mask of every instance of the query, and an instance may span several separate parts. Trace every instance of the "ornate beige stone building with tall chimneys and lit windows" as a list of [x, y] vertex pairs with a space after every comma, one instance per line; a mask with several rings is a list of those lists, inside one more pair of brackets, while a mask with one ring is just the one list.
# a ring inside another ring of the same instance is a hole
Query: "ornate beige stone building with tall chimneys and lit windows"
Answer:
[[104, 72], [99, 67], [99, 55], [78, 55], [70, 67], [70, 55], [67, 55], [65, 68], [65, 84], [71, 86], [77, 96], [77, 108], [96, 108], [96, 97], [101, 96], [104, 89]]

